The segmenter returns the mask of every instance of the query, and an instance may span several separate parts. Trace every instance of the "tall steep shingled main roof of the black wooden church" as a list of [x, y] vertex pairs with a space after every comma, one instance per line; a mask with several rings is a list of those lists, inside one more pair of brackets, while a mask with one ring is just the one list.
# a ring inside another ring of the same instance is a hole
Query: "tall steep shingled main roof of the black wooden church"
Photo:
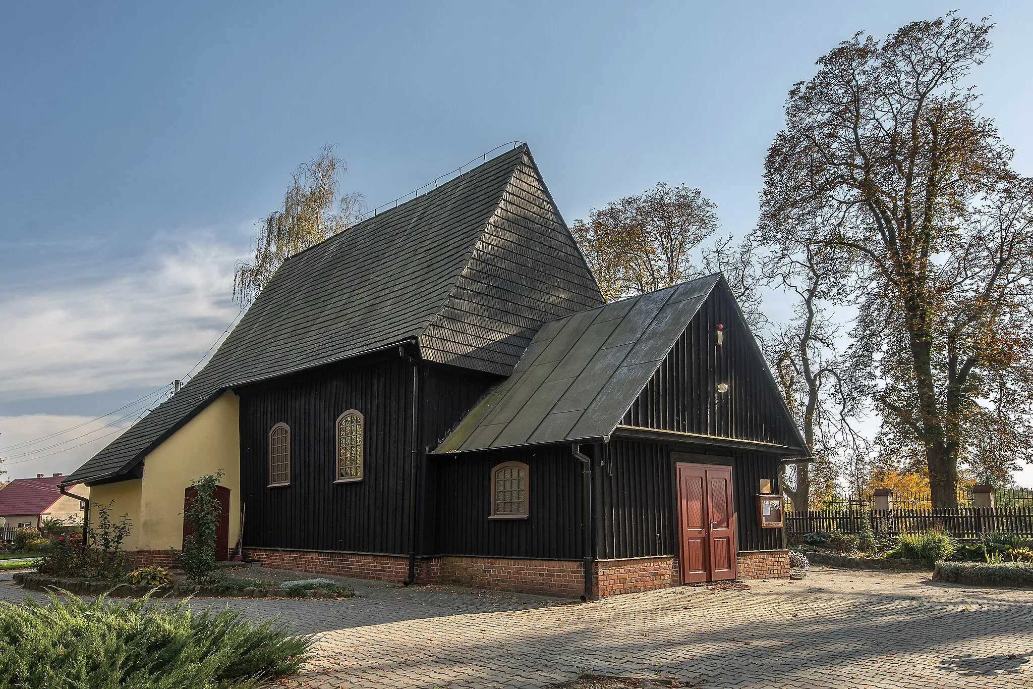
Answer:
[[234, 385], [403, 342], [507, 375], [542, 322], [601, 303], [520, 146], [292, 256], [200, 373], [66, 482], [126, 475]]

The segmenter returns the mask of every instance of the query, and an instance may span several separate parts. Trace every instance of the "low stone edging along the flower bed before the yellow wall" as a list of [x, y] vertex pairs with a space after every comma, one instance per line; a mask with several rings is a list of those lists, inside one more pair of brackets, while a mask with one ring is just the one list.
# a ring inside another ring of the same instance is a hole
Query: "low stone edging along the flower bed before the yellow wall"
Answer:
[[[86, 582], [64, 576], [46, 576], [36, 572], [19, 572], [11, 577], [14, 584], [28, 591], [67, 591], [76, 596], [106, 595], [109, 598], [142, 598], [147, 594], [157, 597], [171, 596], [185, 598], [187, 596], [205, 598], [352, 598], [355, 593], [333, 593], [327, 589], [313, 589], [291, 595], [279, 585], [272, 587], [245, 587], [227, 589], [218, 586], [187, 586], [184, 584], [147, 586], [137, 584], [115, 584], [113, 582]], [[304, 593], [304, 595], [301, 595]]]

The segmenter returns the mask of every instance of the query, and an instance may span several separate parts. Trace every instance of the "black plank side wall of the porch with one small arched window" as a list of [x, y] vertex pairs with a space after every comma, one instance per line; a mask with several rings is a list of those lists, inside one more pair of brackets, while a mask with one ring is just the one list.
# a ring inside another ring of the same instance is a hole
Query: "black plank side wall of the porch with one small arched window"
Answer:
[[[502, 462], [528, 465], [526, 520], [490, 520], [492, 468]], [[582, 463], [567, 447], [436, 456], [436, 514], [440, 555], [580, 560]]]

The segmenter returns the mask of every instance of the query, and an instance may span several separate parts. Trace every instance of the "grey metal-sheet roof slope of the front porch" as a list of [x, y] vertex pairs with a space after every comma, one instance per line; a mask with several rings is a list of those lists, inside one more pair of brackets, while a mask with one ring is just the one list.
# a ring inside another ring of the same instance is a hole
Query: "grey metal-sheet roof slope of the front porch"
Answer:
[[546, 323], [436, 452], [608, 437], [720, 275]]

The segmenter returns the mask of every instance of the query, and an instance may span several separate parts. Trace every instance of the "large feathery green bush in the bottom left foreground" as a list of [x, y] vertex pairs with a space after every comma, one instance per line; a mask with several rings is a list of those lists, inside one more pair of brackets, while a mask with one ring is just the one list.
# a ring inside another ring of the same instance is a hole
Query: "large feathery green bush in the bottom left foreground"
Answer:
[[313, 643], [187, 601], [0, 602], [0, 689], [243, 689], [296, 672]]

